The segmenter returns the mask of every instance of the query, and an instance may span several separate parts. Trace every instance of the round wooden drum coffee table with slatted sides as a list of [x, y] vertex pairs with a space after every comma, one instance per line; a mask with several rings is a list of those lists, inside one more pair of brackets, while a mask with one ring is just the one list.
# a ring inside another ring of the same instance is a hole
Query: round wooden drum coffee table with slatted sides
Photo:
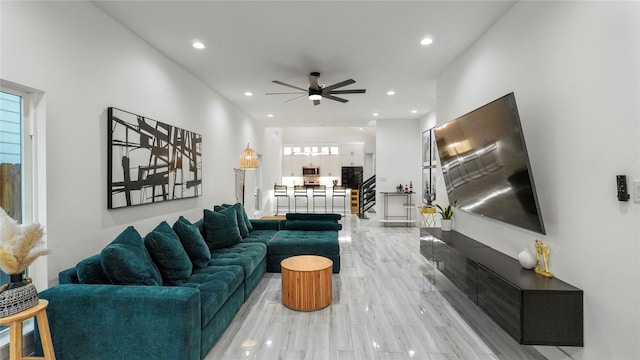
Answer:
[[282, 304], [292, 310], [314, 311], [331, 304], [333, 261], [315, 255], [300, 255], [280, 262]]

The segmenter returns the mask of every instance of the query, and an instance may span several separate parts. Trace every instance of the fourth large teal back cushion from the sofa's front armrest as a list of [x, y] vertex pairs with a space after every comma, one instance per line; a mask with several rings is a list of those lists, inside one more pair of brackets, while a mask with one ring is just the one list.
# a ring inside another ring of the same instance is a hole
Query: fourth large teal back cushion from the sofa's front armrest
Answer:
[[210, 250], [221, 249], [242, 241], [238, 229], [238, 218], [234, 208], [213, 212], [204, 209], [205, 241]]

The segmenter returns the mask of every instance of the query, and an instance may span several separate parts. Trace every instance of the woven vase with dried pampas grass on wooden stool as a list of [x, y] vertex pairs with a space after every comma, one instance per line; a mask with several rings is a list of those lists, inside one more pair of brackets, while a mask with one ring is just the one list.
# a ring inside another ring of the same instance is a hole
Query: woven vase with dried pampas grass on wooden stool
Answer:
[[35, 259], [46, 255], [38, 223], [20, 225], [0, 208], [0, 269], [10, 283], [0, 286], [0, 317], [10, 316], [38, 304], [38, 291], [25, 270]]

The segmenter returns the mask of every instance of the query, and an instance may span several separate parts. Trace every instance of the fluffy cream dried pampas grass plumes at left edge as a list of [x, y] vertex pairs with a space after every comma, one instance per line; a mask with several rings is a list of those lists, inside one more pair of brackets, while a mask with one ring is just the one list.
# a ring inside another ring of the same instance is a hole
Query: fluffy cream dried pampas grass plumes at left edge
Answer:
[[48, 254], [43, 235], [40, 224], [20, 225], [0, 208], [0, 269], [20, 274], [35, 259]]

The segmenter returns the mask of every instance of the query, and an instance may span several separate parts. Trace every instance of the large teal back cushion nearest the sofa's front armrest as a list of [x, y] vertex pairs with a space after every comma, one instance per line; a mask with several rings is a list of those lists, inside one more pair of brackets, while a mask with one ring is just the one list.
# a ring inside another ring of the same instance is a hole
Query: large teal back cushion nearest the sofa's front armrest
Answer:
[[102, 249], [100, 263], [113, 284], [162, 285], [162, 275], [133, 226]]

